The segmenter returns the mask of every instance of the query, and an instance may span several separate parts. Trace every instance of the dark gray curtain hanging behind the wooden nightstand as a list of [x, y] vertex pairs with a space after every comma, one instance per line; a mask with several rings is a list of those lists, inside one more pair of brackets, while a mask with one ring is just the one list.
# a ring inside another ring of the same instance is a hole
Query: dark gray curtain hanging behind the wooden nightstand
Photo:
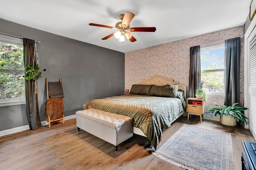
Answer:
[[188, 97], [194, 98], [196, 90], [200, 87], [201, 67], [200, 67], [200, 45], [190, 47], [190, 69]]

